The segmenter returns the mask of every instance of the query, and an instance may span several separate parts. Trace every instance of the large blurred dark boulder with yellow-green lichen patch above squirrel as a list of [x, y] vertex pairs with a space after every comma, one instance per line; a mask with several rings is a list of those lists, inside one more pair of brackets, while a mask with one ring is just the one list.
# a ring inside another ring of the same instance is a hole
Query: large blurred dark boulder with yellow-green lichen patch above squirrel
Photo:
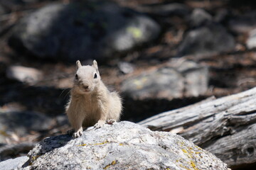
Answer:
[[24, 17], [9, 45], [39, 58], [74, 62], [111, 57], [154, 40], [159, 25], [109, 1], [50, 4]]

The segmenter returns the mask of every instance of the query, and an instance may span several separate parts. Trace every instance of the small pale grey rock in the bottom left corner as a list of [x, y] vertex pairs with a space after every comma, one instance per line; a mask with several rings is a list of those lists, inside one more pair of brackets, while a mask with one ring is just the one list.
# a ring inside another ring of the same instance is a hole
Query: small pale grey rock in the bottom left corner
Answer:
[[13, 170], [20, 169], [23, 164], [28, 161], [28, 157], [17, 157], [15, 159], [8, 159], [4, 162], [0, 162], [1, 170]]

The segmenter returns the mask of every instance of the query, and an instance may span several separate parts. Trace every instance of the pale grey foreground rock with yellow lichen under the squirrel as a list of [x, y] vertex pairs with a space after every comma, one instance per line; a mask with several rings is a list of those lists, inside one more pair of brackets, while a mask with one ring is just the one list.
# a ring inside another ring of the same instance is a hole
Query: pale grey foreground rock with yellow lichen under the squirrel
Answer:
[[227, 169], [205, 150], [170, 132], [121, 122], [81, 137], [48, 137], [28, 153], [24, 169]]

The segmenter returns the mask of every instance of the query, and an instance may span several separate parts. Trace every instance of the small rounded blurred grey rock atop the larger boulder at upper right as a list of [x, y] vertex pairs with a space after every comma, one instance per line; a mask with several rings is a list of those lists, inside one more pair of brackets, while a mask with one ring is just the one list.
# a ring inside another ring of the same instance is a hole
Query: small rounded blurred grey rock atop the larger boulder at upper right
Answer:
[[202, 8], [195, 8], [191, 14], [190, 25], [192, 27], [203, 26], [213, 20], [213, 17]]

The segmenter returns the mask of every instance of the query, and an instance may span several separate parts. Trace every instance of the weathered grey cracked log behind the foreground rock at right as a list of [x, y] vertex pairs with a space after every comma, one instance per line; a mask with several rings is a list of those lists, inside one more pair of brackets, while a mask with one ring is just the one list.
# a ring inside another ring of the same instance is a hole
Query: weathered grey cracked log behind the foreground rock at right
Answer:
[[256, 88], [143, 120], [151, 130], [177, 132], [236, 168], [256, 163]]

